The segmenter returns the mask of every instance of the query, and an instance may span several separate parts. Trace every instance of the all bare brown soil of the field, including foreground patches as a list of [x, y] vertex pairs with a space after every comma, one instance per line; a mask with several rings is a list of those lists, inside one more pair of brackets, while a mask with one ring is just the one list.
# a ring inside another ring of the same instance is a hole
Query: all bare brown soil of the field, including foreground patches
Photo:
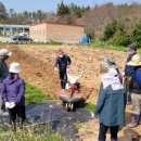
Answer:
[[[87, 102], [94, 104], [97, 103], [100, 86], [100, 61], [106, 56], [114, 57], [118, 62], [120, 72], [123, 72], [127, 57], [125, 52], [79, 46], [7, 46], [7, 48], [13, 52], [9, 63], [20, 62], [23, 67], [22, 77], [49, 94], [57, 94], [60, 91], [59, 76], [57, 72], [53, 70], [53, 64], [56, 51], [63, 49], [72, 57], [72, 68], [74, 70], [85, 69], [85, 74], [80, 79], [82, 91], [86, 95], [89, 95]], [[130, 121], [130, 112], [131, 106], [128, 106], [127, 123]], [[90, 120], [79, 129], [81, 141], [97, 141], [98, 133], [98, 119]], [[140, 136], [141, 126], [133, 129], [121, 128], [119, 141], [141, 141]], [[110, 134], [107, 141], [110, 141]]]

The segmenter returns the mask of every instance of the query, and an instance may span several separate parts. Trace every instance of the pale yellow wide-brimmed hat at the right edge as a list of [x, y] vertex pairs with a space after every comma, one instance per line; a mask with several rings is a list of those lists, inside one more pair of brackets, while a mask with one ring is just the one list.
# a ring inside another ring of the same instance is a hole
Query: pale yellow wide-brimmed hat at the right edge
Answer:
[[131, 61], [127, 63], [129, 66], [141, 66], [141, 56], [136, 54], [132, 56]]

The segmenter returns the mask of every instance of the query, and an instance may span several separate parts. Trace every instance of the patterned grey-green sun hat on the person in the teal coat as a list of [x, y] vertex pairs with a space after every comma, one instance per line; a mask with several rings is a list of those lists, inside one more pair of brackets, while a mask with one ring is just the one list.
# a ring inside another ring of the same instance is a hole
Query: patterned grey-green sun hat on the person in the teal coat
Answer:
[[104, 59], [101, 62], [101, 66], [104, 66], [106, 68], [117, 68], [118, 67], [114, 59]]

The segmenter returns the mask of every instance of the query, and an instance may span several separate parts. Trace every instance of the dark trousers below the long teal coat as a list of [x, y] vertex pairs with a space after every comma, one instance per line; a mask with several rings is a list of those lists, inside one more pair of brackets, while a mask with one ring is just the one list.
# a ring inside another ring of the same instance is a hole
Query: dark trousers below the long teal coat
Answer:
[[117, 133], [118, 133], [118, 126], [104, 126], [103, 123], [100, 123], [100, 134], [99, 134], [99, 141], [105, 141], [106, 139], [106, 132], [107, 129], [110, 128], [111, 132], [111, 139], [112, 140], [117, 140]]

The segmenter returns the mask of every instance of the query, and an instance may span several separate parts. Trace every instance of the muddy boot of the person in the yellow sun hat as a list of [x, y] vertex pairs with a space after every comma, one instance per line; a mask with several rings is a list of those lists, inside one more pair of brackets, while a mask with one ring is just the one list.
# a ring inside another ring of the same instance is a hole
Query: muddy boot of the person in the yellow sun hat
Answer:
[[139, 118], [140, 118], [140, 115], [137, 115], [137, 114], [132, 114], [131, 116], [131, 123], [127, 125], [128, 128], [133, 128], [138, 125], [139, 123]]

